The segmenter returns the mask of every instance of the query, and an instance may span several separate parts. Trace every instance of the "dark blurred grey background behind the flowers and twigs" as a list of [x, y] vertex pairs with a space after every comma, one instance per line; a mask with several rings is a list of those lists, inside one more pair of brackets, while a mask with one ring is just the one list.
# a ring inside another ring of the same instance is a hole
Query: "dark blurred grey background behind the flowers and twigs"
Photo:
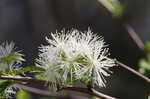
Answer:
[[[122, 0], [123, 2], [125, 0]], [[126, 0], [122, 21], [130, 23], [141, 39], [150, 40], [150, 1]], [[143, 53], [132, 41], [121, 21], [92, 0], [0, 0], [0, 42], [14, 41], [25, 54], [25, 65], [33, 65], [45, 36], [63, 28], [81, 31], [91, 27], [104, 36], [112, 58], [138, 70]], [[148, 84], [121, 67], [113, 68], [102, 92], [119, 99], [147, 99]], [[40, 99], [40, 98], [39, 98]]]

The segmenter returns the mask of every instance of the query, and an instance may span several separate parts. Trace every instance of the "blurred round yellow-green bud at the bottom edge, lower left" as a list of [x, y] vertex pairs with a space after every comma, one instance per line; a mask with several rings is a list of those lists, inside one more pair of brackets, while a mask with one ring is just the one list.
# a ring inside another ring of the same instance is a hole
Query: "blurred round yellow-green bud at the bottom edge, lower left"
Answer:
[[17, 99], [31, 99], [31, 96], [28, 92], [21, 90], [17, 92], [16, 98]]

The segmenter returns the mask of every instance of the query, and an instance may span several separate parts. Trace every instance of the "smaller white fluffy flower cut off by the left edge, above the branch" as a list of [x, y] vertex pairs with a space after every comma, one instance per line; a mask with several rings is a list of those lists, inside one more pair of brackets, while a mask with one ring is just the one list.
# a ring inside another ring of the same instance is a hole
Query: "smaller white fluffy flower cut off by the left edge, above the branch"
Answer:
[[15, 44], [5, 42], [0, 45], [0, 72], [7, 69], [19, 69], [19, 65], [24, 59], [22, 54], [15, 51]]

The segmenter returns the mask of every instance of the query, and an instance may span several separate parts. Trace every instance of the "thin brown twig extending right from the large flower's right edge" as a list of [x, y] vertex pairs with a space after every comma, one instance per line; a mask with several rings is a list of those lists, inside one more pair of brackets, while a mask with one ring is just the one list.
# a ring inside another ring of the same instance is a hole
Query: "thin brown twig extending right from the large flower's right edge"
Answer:
[[134, 69], [130, 68], [129, 66], [127, 66], [127, 65], [125, 65], [125, 64], [123, 64], [123, 63], [121, 63], [121, 62], [119, 62], [119, 61], [117, 61], [117, 60], [114, 60], [114, 61], [115, 61], [115, 63], [118, 64], [119, 66], [121, 66], [121, 67], [127, 69], [127, 70], [130, 71], [131, 73], [133, 73], [133, 74], [137, 75], [138, 77], [144, 79], [146, 82], [148, 82], [148, 83], [150, 84], [150, 79], [147, 78], [146, 76], [140, 74], [139, 72], [135, 71]]

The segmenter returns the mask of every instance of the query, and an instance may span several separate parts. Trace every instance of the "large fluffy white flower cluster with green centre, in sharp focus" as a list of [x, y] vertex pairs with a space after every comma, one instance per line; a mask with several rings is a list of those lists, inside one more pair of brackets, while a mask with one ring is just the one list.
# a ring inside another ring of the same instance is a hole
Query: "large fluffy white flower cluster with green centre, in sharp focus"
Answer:
[[90, 29], [86, 32], [63, 30], [51, 36], [52, 39], [46, 37], [49, 45], [40, 47], [37, 59], [46, 69], [45, 75], [64, 82], [83, 80], [105, 86], [104, 76], [109, 76], [107, 71], [115, 64], [107, 57], [108, 48], [102, 37]]

